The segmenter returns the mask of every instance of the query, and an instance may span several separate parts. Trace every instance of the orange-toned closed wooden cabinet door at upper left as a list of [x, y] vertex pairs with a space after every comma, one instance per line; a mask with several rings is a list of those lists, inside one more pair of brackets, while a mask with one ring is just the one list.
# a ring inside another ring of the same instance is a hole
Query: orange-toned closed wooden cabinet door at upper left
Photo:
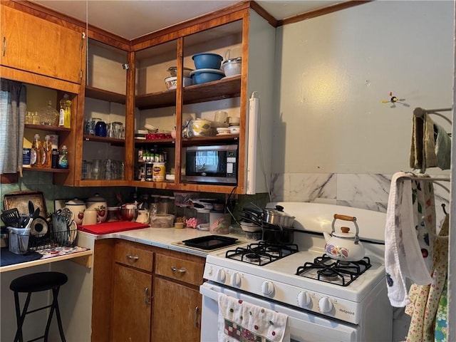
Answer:
[[83, 33], [1, 6], [2, 66], [81, 83]]

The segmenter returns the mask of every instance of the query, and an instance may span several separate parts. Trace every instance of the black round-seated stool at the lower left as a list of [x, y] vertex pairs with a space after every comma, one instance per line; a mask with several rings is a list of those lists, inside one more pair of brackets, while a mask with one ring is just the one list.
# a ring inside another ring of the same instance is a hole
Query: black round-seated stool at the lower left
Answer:
[[[27, 314], [31, 314], [32, 312], [44, 310], [47, 308], [51, 308], [49, 312], [48, 321], [46, 323], [46, 330], [43, 336], [33, 338], [31, 341], [39, 340], [40, 338], [44, 338], [44, 341], [48, 341], [48, 333], [49, 327], [51, 326], [51, 320], [54, 311], [56, 311], [57, 316], [57, 323], [58, 323], [58, 331], [60, 333], [60, 337], [62, 342], [66, 342], [65, 336], [63, 335], [63, 328], [62, 328], [62, 321], [60, 317], [60, 311], [58, 310], [58, 291], [60, 290], [60, 286], [68, 281], [68, 277], [66, 274], [60, 272], [38, 272], [33, 274], [27, 274], [26, 276], [19, 276], [19, 278], [14, 279], [11, 281], [9, 285], [9, 289], [14, 291], [14, 304], [16, 305], [16, 321], [17, 321], [17, 331], [16, 336], [14, 336], [14, 342], [19, 341], [23, 342], [22, 337], [22, 326], [24, 324], [24, 320]], [[31, 294], [34, 292], [40, 291], [48, 291], [52, 290], [53, 300], [51, 305], [43, 306], [38, 309], [34, 309], [31, 311], [27, 311], [28, 304], [30, 304], [30, 297]], [[24, 304], [24, 309], [19, 306], [19, 292], [26, 293], [27, 298]]]

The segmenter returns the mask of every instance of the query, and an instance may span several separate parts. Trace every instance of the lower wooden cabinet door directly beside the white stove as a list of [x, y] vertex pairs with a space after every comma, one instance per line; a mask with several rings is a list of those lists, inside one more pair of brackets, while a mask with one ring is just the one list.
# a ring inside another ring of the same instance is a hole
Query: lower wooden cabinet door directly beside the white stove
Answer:
[[152, 341], [198, 342], [201, 302], [199, 291], [155, 277]]

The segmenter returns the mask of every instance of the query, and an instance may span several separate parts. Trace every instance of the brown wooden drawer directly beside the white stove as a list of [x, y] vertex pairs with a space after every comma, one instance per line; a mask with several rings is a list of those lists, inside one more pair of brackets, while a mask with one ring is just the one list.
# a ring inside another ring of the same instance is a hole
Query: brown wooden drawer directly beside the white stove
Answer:
[[162, 254], [157, 254], [155, 261], [155, 274], [197, 286], [202, 284], [204, 264]]

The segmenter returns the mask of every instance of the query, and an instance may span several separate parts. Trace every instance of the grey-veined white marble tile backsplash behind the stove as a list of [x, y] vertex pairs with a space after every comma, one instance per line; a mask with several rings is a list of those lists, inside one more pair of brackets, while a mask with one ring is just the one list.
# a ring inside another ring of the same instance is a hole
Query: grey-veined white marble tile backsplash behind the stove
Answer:
[[[377, 212], [386, 212], [393, 175], [282, 173], [272, 175], [271, 200], [287, 202], [323, 202]], [[447, 211], [449, 183], [434, 183], [437, 227]], [[445, 187], [447, 189], [445, 189]]]

